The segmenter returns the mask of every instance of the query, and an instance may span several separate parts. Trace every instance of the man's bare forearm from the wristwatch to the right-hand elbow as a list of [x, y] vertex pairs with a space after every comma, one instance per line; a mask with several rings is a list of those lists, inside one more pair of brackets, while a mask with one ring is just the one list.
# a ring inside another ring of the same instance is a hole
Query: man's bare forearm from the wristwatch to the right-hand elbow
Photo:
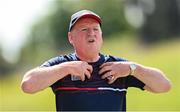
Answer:
[[145, 67], [140, 64], [136, 65], [137, 69], [133, 76], [145, 83], [145, 90], [161, 93], [171, 89], [171, 82], [162, 71], [152, 67]]

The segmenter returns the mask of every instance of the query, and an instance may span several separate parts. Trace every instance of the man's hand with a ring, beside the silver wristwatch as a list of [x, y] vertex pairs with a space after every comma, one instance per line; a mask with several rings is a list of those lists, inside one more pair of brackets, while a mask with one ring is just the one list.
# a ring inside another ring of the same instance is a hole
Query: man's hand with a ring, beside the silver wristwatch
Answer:
[[107, 62], [100, 66], [99, 74], [102, 79], [107, 78], [112, 84], [117, 78], [128, 76], [130, 73], [129, 64], [131, 62]]

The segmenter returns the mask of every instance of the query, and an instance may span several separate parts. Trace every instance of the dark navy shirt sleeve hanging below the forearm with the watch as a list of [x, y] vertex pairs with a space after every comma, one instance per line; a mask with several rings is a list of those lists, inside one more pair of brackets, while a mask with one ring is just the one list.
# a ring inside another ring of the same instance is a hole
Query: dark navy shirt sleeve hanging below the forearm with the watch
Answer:
[[134, 76], [127, 76], [126, 77], [126, 86], [127, 87], [137, 87], [141, 90], [144, 90], [145, 84]]

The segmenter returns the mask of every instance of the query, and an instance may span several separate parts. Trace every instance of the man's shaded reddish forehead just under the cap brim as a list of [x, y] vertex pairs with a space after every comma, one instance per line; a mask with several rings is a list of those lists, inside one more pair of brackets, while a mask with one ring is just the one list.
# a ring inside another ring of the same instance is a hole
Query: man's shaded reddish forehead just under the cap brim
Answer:
[[86, 25], [97, 25], [97, 26], [99, 26], [99, 22], [93, 18], [81, 18], [76, 22], [74, 27], [86, 26]]

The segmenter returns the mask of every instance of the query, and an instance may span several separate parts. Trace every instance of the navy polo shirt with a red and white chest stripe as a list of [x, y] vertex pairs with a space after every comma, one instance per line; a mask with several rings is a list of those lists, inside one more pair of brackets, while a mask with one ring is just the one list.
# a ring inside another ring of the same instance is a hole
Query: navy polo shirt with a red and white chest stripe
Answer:
[[[127, 61], [111, 55], [99, 54], [97, 62], [89, 63], [93, 67], [91, 78], [79, 80], [73, 74], [51, 85], [56, 98], [57, 111], [126, 111], [126, 93], [128, 87], [144, 90], [145, 84], [134, 76], [118, 78], [108, 84], [98, 74], [100, 65], [106, 62]], [[75, 53], [54, 57], [41, 67], [51, 67], [63, 62], [80, 61]]]

